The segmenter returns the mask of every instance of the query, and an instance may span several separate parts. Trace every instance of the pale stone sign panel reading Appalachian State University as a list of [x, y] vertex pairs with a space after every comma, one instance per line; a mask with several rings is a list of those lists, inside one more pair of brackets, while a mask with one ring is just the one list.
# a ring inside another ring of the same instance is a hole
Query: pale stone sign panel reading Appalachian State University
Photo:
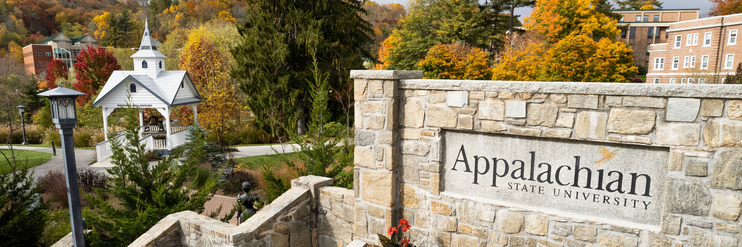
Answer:
[[444, 131], [443, 191], [660, 225], [668, 148]]

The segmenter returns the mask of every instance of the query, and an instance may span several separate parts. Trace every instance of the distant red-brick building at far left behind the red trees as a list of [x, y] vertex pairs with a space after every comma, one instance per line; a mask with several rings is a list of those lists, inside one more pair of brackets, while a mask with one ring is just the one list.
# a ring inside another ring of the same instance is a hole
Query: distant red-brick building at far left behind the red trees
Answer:
[[28, 73], [33, 73], [39, 79], [46, 76], [46, 65], [52, 59], [60, 59], [71, 67], [75, 56], [87, 46], [97, 47], [98, 41], [93, 36], [83, 34], [75, 38], [68, 38], [63, 33], [57, 33], [44, 39], [41, 44], [23, 47], [23, 62]]

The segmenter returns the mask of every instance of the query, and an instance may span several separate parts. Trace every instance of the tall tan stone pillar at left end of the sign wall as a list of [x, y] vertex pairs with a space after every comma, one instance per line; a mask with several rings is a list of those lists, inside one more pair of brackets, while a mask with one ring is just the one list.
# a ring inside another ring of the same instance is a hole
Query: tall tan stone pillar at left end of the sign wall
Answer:
[[355, 79], [355, 206], [353, 238], [378, 243], [398, 220], [401, 79], [422, 71], [351, 70]]

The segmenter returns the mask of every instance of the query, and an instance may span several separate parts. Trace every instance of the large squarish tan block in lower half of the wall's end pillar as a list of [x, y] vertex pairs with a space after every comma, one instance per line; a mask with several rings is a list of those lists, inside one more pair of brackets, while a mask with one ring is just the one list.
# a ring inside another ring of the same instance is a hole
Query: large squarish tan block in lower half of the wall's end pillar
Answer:
[[395, 181], [390, 171], [364, 171], [361, 174], [361, 193], [364, 200], [391, 207]]

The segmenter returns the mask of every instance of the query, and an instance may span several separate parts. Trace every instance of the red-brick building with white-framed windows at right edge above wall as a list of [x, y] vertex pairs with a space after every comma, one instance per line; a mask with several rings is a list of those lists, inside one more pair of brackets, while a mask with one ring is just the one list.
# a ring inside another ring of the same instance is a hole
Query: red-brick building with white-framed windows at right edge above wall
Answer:
[[668, 42], [651, 45], [649, 83], [723, 83], [742, 62], [742, 14], [673, 22]]

